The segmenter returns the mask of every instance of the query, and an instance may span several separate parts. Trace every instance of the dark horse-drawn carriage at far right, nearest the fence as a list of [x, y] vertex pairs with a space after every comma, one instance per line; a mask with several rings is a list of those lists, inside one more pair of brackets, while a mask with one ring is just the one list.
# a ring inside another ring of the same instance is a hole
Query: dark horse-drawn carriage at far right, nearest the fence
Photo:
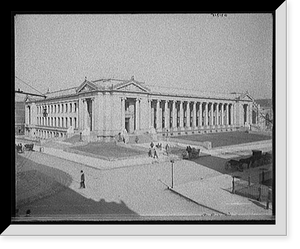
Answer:
[[261, 150], [252, 150], [252, 155], [247, 158], [237, 159], [230, 159], [225, 163], [225, 169], [229, 170], [229, 168], [233, 170], [243, 171], [244, 164], [247, 165], [247, 169], [250, 167], [255, 168], [262, 165], [266, 165], [271, 163], [272, 161], [272, 154], [269, 152], [262, 153]]

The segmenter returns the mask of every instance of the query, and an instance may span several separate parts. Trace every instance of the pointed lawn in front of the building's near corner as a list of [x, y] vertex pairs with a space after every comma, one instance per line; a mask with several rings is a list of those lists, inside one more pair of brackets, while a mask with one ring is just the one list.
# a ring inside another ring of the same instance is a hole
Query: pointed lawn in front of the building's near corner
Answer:
[[118, 146], [114, 142], [92, 142], [83, 146], [74, 146], [72, 150], [78, 150], [105, 158], [123, 158], [145, 154], [140, 150]]

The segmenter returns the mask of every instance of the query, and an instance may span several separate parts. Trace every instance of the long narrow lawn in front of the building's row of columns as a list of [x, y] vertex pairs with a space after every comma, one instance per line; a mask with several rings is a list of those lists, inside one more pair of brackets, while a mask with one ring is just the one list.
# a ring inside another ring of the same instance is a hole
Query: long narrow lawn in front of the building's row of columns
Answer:
[[269, 140], [272, 137], [260, 134], [252, 134], [246, 132], [222, 132], [222, 133], [208, 133], [187, 136], [176, 136], [176, 139], [196, 141], [196, 142], [212, 142], [213, 147], [227, 146], [233, 144], [251, 143], [262, 140]]

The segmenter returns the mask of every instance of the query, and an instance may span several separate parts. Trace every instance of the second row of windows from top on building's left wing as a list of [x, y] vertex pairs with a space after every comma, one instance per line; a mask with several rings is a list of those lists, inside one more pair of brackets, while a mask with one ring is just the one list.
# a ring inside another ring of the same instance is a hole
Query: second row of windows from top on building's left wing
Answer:
[[76, 117], [37, 117], [37, 124], [42, 126], [51, 126], [51, 127], [62, 127], [69, 128], [74, 126], [77, 129], [77, 119]]

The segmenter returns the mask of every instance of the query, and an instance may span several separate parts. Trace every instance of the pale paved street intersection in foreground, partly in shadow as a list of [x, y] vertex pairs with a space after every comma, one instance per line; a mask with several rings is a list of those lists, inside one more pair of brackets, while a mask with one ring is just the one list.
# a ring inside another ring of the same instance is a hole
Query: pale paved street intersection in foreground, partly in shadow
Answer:
[[[65, 191], [23, 206], [20, 214], [28, 208], [32, 216], [39, 217], [101, 215], [102, 218], [123, 218], [133, 215], [197, 218], [213, 213], [172, 193], [158, 181], [161, 179], [171, 184], [171, 165], [167, 162], [95, 169], [39, 152], [32, 153], [30, 159], [68, 173], [72, 182]], [[175, 185], [216, 174], [189, 161], [176, 162], [175, 166]], [[86, 175], [86, 189], [79, 189], [80, 170]]]

